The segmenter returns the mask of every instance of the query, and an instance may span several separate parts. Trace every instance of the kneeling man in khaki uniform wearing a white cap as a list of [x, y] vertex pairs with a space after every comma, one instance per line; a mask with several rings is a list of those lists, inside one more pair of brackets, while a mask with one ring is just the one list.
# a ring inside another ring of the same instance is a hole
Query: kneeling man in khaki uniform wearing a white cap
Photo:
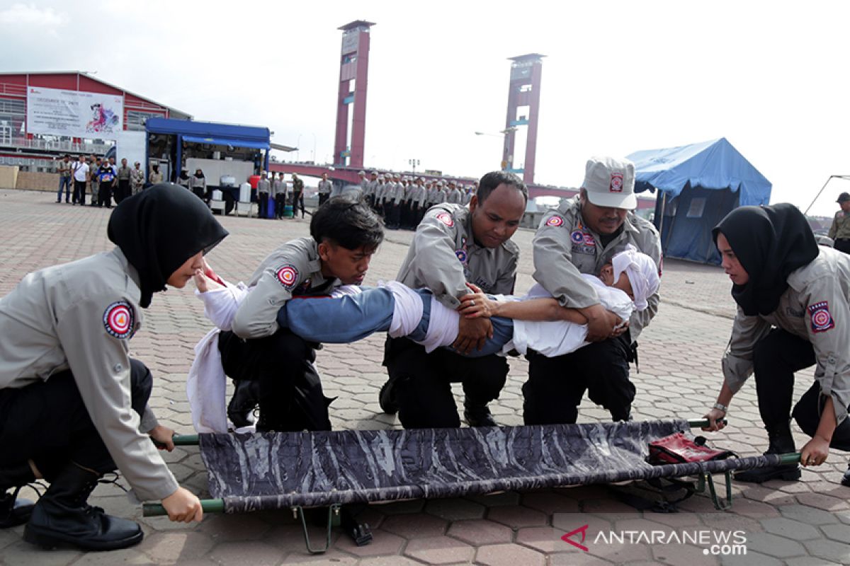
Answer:
[[632, 162], [594, 157], [587, 161], [580, 195], [543, 216], [533, 244], [534, 278], [562, 306], [581, 310], [592, 344], [565, 356], [527, 356], [526, 424], [575, 423], [586, 390], [615, 421], [631, 417], [635, 387], [629, 361], [635, 340], [658, 311], [658, 294], [649, 297], [648, 308], [632, 314], [627, 326], [619, 326], [581, 274], [598, 273], [627, 244], [660, 266], [658, 232], [630, 212], [637, 205]]

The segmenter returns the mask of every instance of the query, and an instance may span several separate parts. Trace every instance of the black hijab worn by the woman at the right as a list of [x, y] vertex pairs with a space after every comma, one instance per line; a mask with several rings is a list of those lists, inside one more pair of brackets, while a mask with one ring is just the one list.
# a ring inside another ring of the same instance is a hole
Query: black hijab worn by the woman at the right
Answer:
[[788, 276], [819, 254], [812, 228], [794, 205], [741, 206], [729, 212], [711, 231], [714, 243], [722, 233], [750, 276], [732, 286], [732, 297], [753, 317], [768, 315], [788, 289]]

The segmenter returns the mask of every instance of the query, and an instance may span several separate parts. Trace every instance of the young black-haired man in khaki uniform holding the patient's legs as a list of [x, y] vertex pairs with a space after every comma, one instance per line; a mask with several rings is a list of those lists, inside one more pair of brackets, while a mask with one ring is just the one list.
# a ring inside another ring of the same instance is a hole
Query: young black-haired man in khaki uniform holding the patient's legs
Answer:
[[295, 295], [327, 294], [363, 282], [383, 239], [381, 221], [365, 202], [330, 199], [310, 220], [310, 238], [275, 249], [248, 281], [252, 291], [235, 313], [232, 330], [218, 338], [224, 373], [236, 382], [228, 415], [245, 426], [259, 401], [258, 430], [330, 430], [328, 400], [315, 371], [316, 345], [277, 323], [277, 311]]

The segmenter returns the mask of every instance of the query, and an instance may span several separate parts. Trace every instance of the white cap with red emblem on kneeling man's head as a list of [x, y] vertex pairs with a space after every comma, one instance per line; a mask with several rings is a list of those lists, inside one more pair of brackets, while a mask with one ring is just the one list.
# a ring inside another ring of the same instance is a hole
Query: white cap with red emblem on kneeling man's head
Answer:
[[590, 158], [581, 188], [587, 191], [587, 199], [592, 205], [627, 210], [638, 207], [635, 164], [632, 161], [611, 157]]

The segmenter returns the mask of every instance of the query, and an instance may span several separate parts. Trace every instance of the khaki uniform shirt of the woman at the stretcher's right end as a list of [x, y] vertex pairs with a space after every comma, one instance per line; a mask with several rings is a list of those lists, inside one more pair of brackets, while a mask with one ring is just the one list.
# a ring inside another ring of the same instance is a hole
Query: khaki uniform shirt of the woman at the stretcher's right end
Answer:
[[832, 397], [841, 424], [850, 405], [850, 256], [820, 246], [814, 261], [788, 276], [776, 311], [747, 317], [738, 308], [722, 362], [723, 378], [733, 392], [751, 376], [752, 351], [773, 327], [812, 343], [814, 378], [822, 394]]

